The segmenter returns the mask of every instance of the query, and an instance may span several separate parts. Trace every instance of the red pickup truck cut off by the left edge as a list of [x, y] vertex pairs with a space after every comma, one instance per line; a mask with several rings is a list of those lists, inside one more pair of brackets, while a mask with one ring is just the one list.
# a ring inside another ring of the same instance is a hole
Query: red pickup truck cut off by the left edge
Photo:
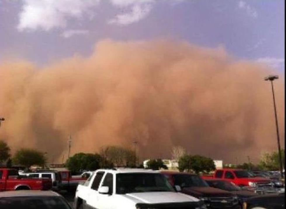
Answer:
[[15, 169], [0, 169], [0, 191], [8, 190], [48, 190], [52, 187], [51, 179], [32, 179], [19, 176]]

